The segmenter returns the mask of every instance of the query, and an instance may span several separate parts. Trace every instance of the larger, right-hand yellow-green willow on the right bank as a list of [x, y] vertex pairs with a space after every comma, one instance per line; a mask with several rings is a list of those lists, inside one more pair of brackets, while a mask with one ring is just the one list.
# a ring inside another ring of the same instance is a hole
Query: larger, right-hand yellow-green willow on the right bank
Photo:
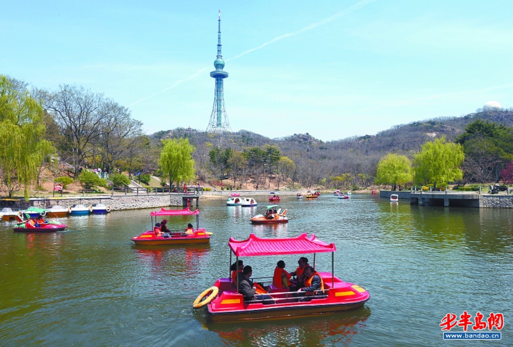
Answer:
[[447, 142], [444, 137], [422, 145], [422, 149], [413, 158], [415, 181], [423, 184], [437, 184], [461, 180], [463, 172], [460, 165], [465, 155], [458, 143]]

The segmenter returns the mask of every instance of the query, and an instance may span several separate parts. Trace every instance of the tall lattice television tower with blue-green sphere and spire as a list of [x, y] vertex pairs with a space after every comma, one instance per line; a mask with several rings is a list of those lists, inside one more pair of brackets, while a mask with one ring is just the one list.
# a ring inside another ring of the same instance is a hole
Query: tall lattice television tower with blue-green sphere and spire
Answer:
[[224, 105], [223, 79], [228, 77], [228, 73], [223, 71], [224, 60], [221, 54], [221, 10], [219, 10], [218, 56], [214, 60], [214, 68], [215, 71], [210, 73], [210, 77], [215, 78], [214, 105], [212, 107], [210, 121], [208, 122], [207, 133], [231, 132]]

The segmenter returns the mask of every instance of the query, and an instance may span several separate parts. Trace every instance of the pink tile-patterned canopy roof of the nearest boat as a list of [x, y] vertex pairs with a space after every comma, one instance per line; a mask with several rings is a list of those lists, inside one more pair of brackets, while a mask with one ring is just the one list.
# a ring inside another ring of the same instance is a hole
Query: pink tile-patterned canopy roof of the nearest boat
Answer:
[[306, 232], [287, 238], [260, 238], [250, 234], [244, 241], [230, 237], [228, 245], [236, 256], [325, 253], [337, 250], [335, 244], [327, 244], [315, 237], [315, 234], [308, 237]]

